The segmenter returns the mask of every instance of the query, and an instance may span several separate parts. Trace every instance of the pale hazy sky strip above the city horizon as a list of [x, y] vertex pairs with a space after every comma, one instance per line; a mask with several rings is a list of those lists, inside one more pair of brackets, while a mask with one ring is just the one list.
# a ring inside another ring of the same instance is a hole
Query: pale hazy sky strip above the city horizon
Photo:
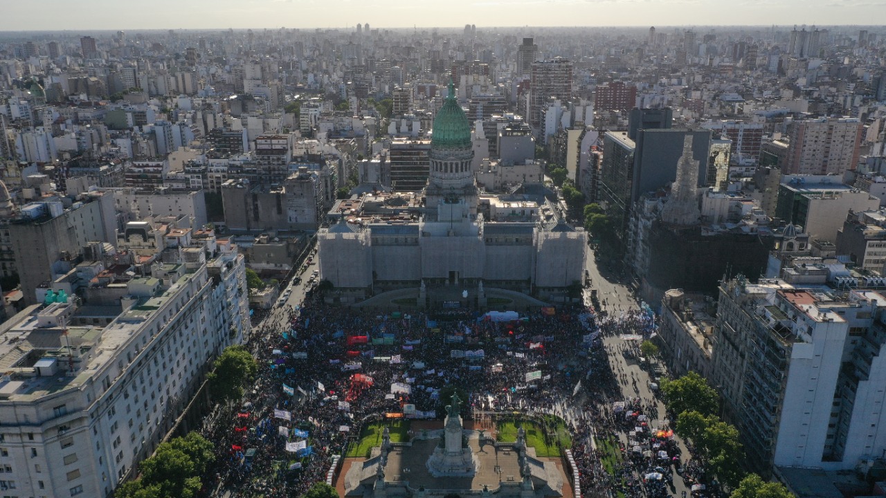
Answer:
[[886, 0], [0, 0], [0, 30], [886, 22]]

